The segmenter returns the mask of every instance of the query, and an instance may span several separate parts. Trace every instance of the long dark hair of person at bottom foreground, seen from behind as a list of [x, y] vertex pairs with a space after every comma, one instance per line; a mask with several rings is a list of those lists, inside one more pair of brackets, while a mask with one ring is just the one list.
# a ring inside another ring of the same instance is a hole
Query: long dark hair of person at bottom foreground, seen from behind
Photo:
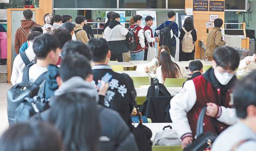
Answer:
[[97, 151], [100, 136], [95, 98], [66, 93], [52, 98], [49, 122], [60, 131], [65, 151]]

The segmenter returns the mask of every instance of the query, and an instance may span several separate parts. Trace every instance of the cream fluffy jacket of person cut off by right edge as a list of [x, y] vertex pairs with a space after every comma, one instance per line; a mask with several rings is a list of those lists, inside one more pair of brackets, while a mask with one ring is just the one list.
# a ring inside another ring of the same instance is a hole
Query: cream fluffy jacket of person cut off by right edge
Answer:
[[256, 69], [256, 54], [253, 54], [253, 56], [247, 56], [242, 61], [240, 61], [240, 64], [238, 66], [239, 70], [246, 71], [246, 72], [252, 72]]

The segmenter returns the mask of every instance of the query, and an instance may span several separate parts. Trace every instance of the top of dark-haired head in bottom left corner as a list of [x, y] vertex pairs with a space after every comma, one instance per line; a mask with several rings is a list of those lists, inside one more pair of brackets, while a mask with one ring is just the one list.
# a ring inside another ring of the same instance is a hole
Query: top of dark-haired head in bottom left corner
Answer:
[[58, 130], [43, 122], [18, 123], [0, 138], [0, 151], [62, 151]]

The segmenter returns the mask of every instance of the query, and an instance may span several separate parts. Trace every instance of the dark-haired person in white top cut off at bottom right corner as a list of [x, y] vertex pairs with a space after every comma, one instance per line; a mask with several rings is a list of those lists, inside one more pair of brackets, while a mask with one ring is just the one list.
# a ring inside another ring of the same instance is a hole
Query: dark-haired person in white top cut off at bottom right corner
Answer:
[[233, 100], [239, 120], [218, 136], [213, 143], [212, 151], [252, 151], [256, 148], [255, 81], [254, 71], [236, 83]]

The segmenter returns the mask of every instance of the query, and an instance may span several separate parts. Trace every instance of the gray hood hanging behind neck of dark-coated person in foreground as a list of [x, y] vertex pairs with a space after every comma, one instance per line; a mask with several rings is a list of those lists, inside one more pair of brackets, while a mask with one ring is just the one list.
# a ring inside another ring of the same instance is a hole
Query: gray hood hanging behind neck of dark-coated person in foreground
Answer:
[[86, 82], [81, 77], [72, 77], [69, 80], [62, 83], [62, 85], [54, 92], [54, 95], [58, 96], [68, 92], [85, 92], [90, 97], [95, 97], [98, 102], [98, 91], [92, 83]]

